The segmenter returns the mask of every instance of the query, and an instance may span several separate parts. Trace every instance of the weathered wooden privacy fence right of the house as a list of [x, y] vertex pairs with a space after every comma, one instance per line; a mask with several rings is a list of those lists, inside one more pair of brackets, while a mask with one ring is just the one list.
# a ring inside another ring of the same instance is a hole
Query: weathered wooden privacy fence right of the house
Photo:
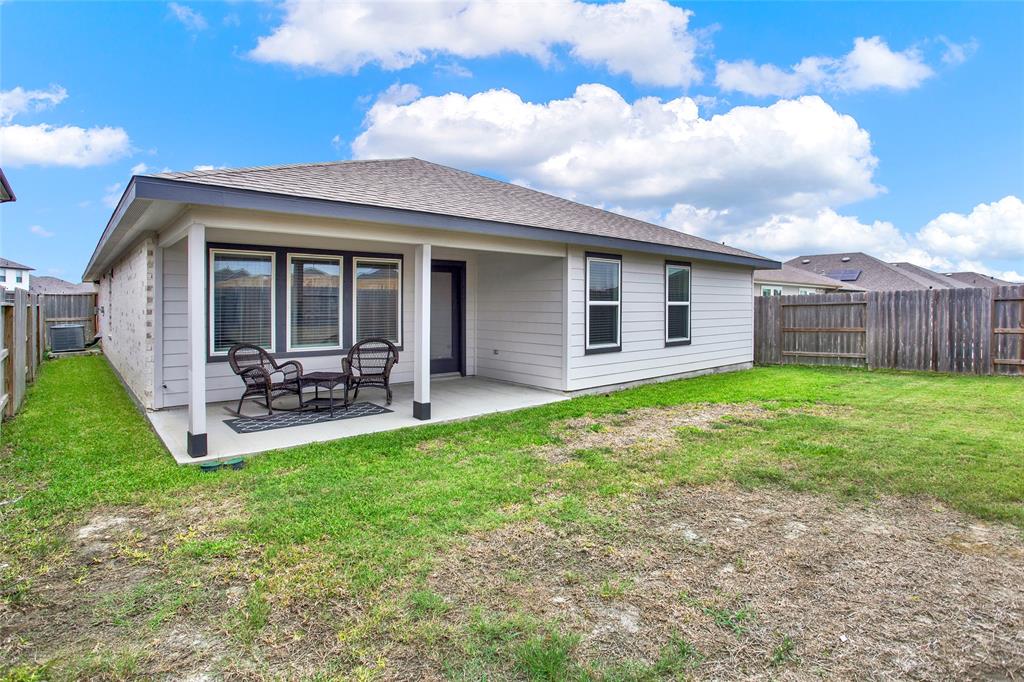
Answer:
[[754, 361], [1024, 375], [1024, 286], [756, 297]]

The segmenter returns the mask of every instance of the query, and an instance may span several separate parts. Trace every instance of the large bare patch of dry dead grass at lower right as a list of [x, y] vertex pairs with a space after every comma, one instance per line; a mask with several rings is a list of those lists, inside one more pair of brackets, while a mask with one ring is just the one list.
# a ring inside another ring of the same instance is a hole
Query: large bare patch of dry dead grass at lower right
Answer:
[[582, 636], [581, 663], [652, 663], [675, 636], [705, 679], [1024, 675], [1015, 528], [925, 500], [728, 485], [604, 511], [625, 523], [613, 536], [540, 522], [476, 536], [431, 589], [455, 619], [482, 606], [557, 623]]

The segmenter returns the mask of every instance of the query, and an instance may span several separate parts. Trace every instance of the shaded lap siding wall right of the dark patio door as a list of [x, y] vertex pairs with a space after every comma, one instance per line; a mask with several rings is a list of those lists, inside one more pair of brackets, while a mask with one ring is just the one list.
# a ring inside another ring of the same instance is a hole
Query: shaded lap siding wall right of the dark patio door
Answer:
[[563, 267], [560, 258], [480, 256], [477, 374], [562, 388]]

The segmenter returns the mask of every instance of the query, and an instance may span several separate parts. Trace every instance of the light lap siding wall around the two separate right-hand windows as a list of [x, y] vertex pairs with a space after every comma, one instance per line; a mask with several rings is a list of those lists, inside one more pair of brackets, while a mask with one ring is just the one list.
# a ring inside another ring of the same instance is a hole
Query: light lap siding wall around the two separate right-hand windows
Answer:
[[753, 361], [752, 271], [692, 263], [691, 343], [665, 345], [665, 259], [623, 253], [623, 332], [620, 352], [588, 355], [585, 253], [570, 251], [568, 389], [655, 379]]

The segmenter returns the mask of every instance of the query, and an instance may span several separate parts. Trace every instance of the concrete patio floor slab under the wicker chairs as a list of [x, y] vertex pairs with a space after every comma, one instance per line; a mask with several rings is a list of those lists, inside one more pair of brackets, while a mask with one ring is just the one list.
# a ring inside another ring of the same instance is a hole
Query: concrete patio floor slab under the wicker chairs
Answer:
[[[430, 421], [450, 422], [557, 402], [566, 398], [563, 393], [481, 377], [434, 377], [431, 387]], [[359, 393], [358, 402], [384, 407], [384, 392], [368, 388]], [[394, 386], [394, 400], [387, 406], [391, 411], [389, 413], [274, 428], [255, 433], [237, 433], [230, 428], [227, 422], [236, 417], [225, 410], [228, 406], [233, 407], [233, 403], [207, 403], [205, 417], [209, 434], [209, 452], [200, 458], [191, 457], [187, 452], [188, 408], [169, 408], [150, 412], [148, 418], [153, 428], [178, 464], [222, 460], [240, 455], [252, 455], [309, 442], [430, 423], [413, 416], [412, 383]], [[244, 412], [247, 415], [258, 415], [260, 409], [249, 404]], [[344, 408], [338, 408], [337, 412], [339, 415], [342, 414]]]

